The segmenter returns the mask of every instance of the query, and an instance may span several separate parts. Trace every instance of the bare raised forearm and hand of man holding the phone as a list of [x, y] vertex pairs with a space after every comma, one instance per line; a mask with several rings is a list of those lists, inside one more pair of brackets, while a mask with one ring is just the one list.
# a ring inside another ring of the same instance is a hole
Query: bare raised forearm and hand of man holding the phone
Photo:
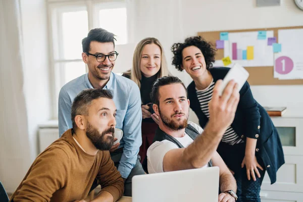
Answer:
[[219, 96], [221, 85], [222, 80], [215, 84], [209, 103], [210, 119], [204, 132], [188, 147], [172, 149], [166, 153], [163, 159], [165, 172], [201, 168], [211, 160], [225, 130], [234, 119], [239, 102], [237, 84], [234, 81], [230, 81], [222, 96]]

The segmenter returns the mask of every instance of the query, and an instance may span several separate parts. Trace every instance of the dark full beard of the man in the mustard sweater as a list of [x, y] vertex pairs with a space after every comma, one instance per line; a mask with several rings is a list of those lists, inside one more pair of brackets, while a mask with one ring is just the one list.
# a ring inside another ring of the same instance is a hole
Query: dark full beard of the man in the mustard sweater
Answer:
[[[111, 135], [107, 135], [112, 133]], [[90, 139], [91, 143], [99, 150], [109, 150], [114, 144], [115, 128], [110, 127], [99, 133], [99, 131], [92, 125], [87, 123], [86, 136]]]

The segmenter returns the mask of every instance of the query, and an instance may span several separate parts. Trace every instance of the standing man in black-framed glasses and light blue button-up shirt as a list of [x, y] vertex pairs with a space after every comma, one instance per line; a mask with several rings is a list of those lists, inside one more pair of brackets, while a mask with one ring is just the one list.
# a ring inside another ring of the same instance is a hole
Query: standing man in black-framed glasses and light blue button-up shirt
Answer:
[[59, 133], [61, 136], [72, 128], [71, 105], [79, 92], [86, 88], [111, 90], [117, 107], [116, 128], [123, 131], [120, 143], [113, 145], [110, 150], [111, 158], [124, 179], [124, 195], [131, 196], [131, 178], [144, 174], [138, 159], [142, 143], [141, 98], [140, 90], [133, 81], [112, 72], [118, 56], [115, 40], [113, 33], [102, 28], [90, 30], [82, 40], [82, 60], [87, 64], [88, 73], [68, 82], [60, 90]]

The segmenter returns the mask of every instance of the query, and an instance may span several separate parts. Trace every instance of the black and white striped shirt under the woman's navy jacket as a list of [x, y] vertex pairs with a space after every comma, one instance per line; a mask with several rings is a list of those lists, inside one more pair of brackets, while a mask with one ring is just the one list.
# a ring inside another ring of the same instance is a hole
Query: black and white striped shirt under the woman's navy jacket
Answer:
[[[200, 103], [200, 107], [202, 112], [207, 116], [207, 118], [210, 118], [210, 112], [209, 112], [209, 102], [212, 99], [213, 96], [213, 90], [214, 90], [215, 82], [214, 80], [211, 82], [211, 84], [203, 89], [203, 90], [197, 90], [197, 97]], [[243, 140], [236, 134], [236, 132], [232, 129], [231, 126], [227, 128], [225, 131], [222, 141], [231, 145], [238, 144], [240, 142], [243, 142]]]

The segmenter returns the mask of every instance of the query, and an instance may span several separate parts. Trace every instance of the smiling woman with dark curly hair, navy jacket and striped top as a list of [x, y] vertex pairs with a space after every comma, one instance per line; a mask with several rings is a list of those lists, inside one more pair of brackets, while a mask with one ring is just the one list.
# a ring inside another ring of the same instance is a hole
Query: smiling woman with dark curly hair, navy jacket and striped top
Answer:
[[[216, 49], [200, 36], [186, 38], [172, 46], [172, 64], [185, 70], [193, 81], [188, 85], [190, 108], [201, 127], [211, 119], [208, 103], [217, 80], [223, 79], [229, 68], [212, 68]], [[284, 164], [281, 141], [270, 117], [254, 99], [248, 82], [240, 90], [235, 118], [225, 131], [218, 153], [237, 181], [238, 201], [261, 201], [260, 189], [268, 172], [271, 183]]]

